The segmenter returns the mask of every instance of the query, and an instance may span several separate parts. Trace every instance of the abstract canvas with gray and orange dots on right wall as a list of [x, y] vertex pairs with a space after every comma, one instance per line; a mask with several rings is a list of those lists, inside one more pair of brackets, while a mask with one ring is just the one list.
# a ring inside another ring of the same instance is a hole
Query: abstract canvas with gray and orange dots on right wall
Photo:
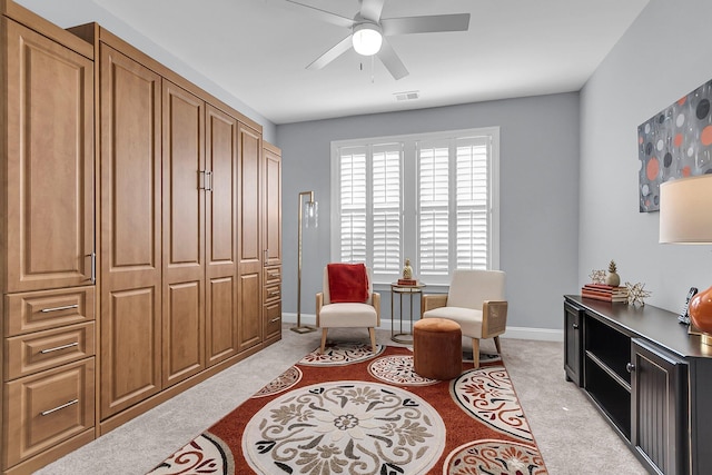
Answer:
[[712, 80], [637, 127], [640, 211], [660, 210], [660, 185], [712, 174]]

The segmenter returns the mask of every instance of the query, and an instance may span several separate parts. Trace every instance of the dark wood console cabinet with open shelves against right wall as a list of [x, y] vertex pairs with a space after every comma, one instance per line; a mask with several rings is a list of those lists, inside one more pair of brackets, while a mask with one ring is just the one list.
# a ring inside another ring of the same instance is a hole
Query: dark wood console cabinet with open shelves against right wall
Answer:
[[564, 372], [652, 474], [712, 473], [712, 346], [676, 315], [564, 296]]

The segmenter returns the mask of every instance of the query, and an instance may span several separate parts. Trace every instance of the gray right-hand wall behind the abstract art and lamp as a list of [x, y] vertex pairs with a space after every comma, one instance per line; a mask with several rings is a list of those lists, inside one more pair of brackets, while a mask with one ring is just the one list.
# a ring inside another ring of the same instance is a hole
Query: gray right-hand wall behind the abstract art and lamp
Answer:
[[622, 281], [672, 311], [712, 285], [712, 247], [657, 244], [659, 212], [639, 212], [636, 141], [640, 123], [712, 79], [710, 19], [710, 0], [651, 0], [582, 90], [578, 284], [615, 259]]

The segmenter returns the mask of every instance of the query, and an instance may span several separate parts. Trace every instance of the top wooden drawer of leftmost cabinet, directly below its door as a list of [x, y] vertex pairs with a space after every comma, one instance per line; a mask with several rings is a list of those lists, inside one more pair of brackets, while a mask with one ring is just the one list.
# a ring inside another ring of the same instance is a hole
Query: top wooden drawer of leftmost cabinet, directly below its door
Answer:
[[6, 296], [6, 336], [93, 320], [93, 287], [28, 291]]

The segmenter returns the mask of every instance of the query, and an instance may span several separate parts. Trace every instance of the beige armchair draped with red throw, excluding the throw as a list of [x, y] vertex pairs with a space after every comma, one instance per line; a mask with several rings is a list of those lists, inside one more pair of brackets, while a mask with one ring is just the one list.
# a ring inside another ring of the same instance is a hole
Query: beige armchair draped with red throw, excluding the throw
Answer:
[[329, 328], [368, 328], [372, 350], [376, 350], [376, 327], [380, 325], [380, 294], [373, 291], [370, 268], [368, 274], [368, 299], [364, 304], [330, 301], [328, 270], [324, 268], [323, 291], [316, 295], [316, 326], [322, 328], [322, 348], [326, 346]]

